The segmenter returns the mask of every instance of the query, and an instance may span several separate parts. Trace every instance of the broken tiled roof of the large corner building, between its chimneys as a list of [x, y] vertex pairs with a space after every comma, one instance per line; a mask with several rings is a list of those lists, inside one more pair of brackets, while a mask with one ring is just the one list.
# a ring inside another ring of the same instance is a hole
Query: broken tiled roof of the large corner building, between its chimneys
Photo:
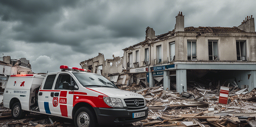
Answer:
[[[199, 26], [198, 28], [190, 26], [190, 27], [186, 27], [184, 28], [185, 32], [233, 32], [233, 33], [246, 33], [244, 30], [240, 30], [239, 28], [237, 28], [236, 26], [234, 27], [202, 27]], [[160, 38], [166, 37], [166, 36], [174, 36], [175, 32], [174, 30], [169, 31], [167, 33], [164, 34], [160, 34], [158, 36], [156, 36], [156, 38], [154, 38], [153, 40], [158, 40]], [[129, 46], [128, 48], [124, 48], [123, 50], [128, 50], [131, 47], [135, 47], [135, 46], [139, 46], [142, 45], [144, 43], [148, 42], [147, 40], [144, 40], [143, 42], [137, 43], [135, 45]]]

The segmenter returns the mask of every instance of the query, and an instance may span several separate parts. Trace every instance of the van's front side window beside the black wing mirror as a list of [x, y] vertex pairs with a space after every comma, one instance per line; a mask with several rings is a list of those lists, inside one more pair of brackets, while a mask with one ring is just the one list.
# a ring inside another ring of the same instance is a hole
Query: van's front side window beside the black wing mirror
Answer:
[[60, 74], [56, 81], [54, 89], [64, 89], [62, 83], [68, 82], [69, 84], [71, 84], [70, 80], [71, 80], [71, 76], [69, 74]]

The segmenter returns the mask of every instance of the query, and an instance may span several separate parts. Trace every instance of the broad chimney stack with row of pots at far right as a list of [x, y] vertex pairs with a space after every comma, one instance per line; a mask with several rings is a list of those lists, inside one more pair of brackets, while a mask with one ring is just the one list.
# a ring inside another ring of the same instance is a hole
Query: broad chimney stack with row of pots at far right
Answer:
[[254, 18], [252, 18], [252, 15], [247, 16], [244, 22], [237, 28], [244, 30], [245, 32], [255, 32]]

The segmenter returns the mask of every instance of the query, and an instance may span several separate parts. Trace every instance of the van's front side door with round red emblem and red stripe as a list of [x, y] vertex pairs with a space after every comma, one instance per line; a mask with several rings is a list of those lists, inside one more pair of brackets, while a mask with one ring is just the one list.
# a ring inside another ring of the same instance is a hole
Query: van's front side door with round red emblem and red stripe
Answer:
[[50, 97], [49, 101], [53, 104], [51, 106], [54, 109], [54, 115], [72, 118], [74, 90], [64, 87], [63, 82], [68, 82], [69, 84], [73, 82], [74, 84], [74, 79], [69, 73], [59, 73], [54, 86], [56, 92], [52, 93], [54, 97]]

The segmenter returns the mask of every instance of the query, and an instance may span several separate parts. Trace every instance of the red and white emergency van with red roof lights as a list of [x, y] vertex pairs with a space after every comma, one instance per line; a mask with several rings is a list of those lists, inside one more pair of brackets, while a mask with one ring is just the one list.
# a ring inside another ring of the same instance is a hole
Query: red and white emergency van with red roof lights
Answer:
[[148, 107], [138, 93], [120, 90], [102, 75], [60, 66], [46, 75], [11, 75], [4, 90], [4, 107], [13, 119], [29, 112], [74, 119], [76, 127], [125, 125], [146, 119]]

